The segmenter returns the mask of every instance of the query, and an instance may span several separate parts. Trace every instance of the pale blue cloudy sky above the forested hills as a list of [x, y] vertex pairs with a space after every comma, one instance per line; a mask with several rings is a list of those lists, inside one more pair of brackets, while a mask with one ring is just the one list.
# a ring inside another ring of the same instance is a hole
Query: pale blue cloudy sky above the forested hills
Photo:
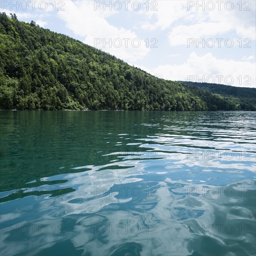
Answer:
[[160, 78], [256, 87], [255, 0], [1, 0], [0, 11]]

